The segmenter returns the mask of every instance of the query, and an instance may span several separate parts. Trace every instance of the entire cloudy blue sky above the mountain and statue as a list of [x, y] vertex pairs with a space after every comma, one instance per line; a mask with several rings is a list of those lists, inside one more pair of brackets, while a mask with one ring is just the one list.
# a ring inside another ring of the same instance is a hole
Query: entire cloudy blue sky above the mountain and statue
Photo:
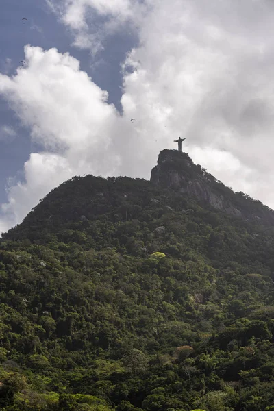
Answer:
[[270, 0], [2, 0], [0, 232], [74, 175], [149, 179], [179, 136], [274, 208], [273, 18]]

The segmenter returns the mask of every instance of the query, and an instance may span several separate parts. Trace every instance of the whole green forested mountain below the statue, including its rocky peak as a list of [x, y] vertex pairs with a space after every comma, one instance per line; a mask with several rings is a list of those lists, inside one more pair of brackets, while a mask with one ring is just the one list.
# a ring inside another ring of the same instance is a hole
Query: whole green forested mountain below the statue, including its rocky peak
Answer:
[[0, 409], [274, 410], [272, 215], [177, 151], [51, 191], [0, 242]]

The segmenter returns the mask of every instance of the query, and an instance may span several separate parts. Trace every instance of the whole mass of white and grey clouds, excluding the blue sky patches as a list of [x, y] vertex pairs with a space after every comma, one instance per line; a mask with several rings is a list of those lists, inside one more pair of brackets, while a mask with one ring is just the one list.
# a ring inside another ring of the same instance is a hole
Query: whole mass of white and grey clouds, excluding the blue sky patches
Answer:
[[99, 49], [129, 22], [140, 46], [122, 67], [123, 116], [77, 60], [55, 49], [28, 46], [26, 66], [14, 77], [0, 76], [0, 93], [45, 150], [25, 164], [26, 181], [10, 187], [9, 215], [21, 221], [38, 198], [75, 174], [149, 177], [158, 152], [176, 147], [178, 136], [186, 137], [195, 162], [274, 207], [271, 2], [48, 3], [77, 47]]

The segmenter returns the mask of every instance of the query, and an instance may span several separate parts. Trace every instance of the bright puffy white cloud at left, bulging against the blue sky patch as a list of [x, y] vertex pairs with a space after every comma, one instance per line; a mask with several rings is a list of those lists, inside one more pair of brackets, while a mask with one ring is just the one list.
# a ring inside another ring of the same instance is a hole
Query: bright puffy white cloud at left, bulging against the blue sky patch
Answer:
[[0, 93], [33, 140], [49, 151], [83, 151], [84, 157], [87, 149], [108, 146], [116, 109], [106, 102], [107, 92], [79, 70], [79, 62], [56, 49], [29, 46], [25, 62], [16, 76], [0, 76]]

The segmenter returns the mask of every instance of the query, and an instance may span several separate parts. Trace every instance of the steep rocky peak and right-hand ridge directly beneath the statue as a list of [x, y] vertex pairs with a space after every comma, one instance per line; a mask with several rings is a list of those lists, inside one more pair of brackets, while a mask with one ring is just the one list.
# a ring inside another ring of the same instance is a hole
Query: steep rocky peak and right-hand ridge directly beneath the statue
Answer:
[[194, 164], [187, 153], [163, 150], [151, 170], [151, 183], [195, 197], [205, 206], [246, 220], [274, 224], [274, 211], [243, 192], [234, 192]]

